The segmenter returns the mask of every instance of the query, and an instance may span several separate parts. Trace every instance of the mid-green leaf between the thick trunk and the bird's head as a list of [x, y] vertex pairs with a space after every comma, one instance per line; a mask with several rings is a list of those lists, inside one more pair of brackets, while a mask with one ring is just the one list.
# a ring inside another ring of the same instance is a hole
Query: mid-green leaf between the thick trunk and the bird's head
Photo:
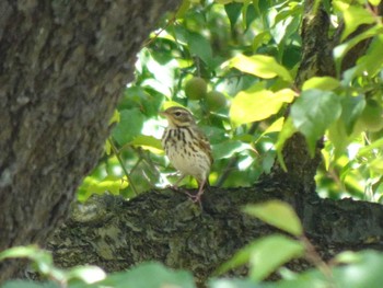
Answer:
[[119, 146], [124, 146], [141, 134], [146, 117], [138, 108], [123, 110], [119, 113], [120, 122], [113, 129], [112, 136]]

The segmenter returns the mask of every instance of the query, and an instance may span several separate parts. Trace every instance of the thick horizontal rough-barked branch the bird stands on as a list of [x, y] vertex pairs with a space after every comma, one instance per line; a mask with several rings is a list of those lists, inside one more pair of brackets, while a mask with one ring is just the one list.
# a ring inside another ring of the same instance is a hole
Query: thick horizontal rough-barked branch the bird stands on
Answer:
[[[202, 283], [239, 249], [276, 232], [245, 216], [242, 207], [280, 198], [299, 211], [306, 235], [325, 260], [340, 250], [383, 250], [381, 205], [333, 201], [314, 194], [301, 205], [295, 200], [299, 191], [283, 183], [211, 188], [204, 195], [204, 210], [179, 192], [153, 191], [131, 201], [97, 196], [84, 206], [73, 204], [70, 220], [50, 238], [48, 247], [63, 267], [88, 263], [116, 272], [156, 260], [170, 267], [190, 269]], [[293, 266], [305, 267], [304, 262]]]

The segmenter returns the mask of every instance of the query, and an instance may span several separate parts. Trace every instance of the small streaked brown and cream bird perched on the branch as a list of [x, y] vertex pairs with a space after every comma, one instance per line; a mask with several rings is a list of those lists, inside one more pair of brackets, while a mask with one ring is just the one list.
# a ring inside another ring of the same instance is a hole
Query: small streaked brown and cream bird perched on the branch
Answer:
[[210, 142], [188, 110], [172, 106], [160, 115], [166, 117], [169, 124], [161, 139], [163, 149], [172, 165], [181, 172], [181, 177], [173, 186], [177, 187], [187, 175], [195, 177], [198, 193], [189, 196], [194, 203], [200, 204], [213, 162]]

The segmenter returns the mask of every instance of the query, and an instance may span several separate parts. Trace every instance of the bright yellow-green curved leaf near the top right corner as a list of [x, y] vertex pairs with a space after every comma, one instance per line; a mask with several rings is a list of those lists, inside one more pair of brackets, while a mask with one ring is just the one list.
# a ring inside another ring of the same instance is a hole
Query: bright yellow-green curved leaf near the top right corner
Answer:
[[372, 24], [375, 22], [374, 16], [371, 12], [362, 7], [350, 5], [347, 10], [344, 11], [345, 19], [345, 31], [341, 34], [341, 41], [347, 38], [352, 32], [357, 30], [361, 24]]

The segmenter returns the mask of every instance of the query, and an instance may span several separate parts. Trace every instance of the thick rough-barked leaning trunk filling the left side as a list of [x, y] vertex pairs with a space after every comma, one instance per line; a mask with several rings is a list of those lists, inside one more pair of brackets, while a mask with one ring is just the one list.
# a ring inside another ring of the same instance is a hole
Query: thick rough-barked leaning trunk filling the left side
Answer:
[[[136, 54], [178, 1], [1, 1], [0, 251], [40, 242], [108, 135]], [[0, 264], [0, 283], [14, 265]]]

